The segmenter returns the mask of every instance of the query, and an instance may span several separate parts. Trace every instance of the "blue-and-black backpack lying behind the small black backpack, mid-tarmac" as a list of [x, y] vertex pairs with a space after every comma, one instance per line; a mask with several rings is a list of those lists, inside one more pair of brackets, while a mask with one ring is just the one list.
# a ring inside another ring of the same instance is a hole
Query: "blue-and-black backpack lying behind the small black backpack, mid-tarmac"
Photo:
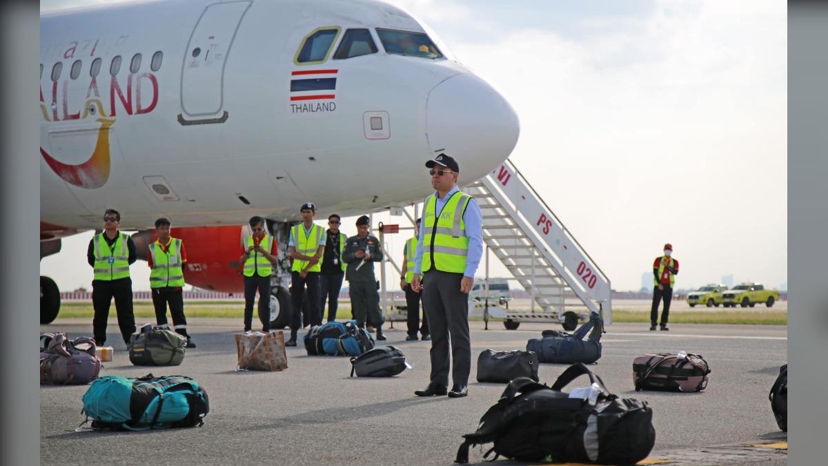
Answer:
[[330, 356], [359, 356], [373, 348], [373, 336], [357, 321], [348, 323], [329, 322], [316, 325], [305, 334], [305, 350], [308, 356], [327, 354]]

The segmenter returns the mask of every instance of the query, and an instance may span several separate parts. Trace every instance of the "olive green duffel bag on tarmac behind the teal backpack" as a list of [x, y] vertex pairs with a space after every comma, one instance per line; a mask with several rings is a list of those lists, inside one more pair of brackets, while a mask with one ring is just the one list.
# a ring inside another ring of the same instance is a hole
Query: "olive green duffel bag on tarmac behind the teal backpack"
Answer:
[[129, 361], [136, 366], [178, 366], [187, 339], [166, 326], [147, 323], [129, 337]]

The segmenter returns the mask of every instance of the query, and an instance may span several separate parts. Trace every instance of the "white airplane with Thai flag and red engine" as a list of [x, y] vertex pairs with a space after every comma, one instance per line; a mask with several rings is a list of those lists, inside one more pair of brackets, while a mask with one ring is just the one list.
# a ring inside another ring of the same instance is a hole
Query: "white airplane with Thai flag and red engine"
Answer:
[[[517, 114], [436, 34], [373, 0], [117, 2], [41, 15], [41, 259], [122, 214], [184, 240], [185, 281], [240, 292], [250, 216], [279, 244], [273, 328], [291, 308], [287, 235], [322, 216], [409, 206], [447, 153], [459, 184], [512, 152]], [[60, 309], [41, 276], [41, 323]]]

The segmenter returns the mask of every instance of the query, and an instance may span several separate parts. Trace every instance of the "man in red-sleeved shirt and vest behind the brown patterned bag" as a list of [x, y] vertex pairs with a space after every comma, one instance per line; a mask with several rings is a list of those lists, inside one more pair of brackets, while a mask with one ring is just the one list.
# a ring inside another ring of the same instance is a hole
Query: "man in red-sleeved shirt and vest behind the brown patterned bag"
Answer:
[[262, 332], [270, 332], [270, 276], [277, 264], [277, 244], [264, 229], [264, 219], [250, 217], [248, 221], [253, 235], [242, 239], [243, 254], [238, 263], [243, 264], [244, 275], [244, 331], [253, 329], [253, 303], [256, 290], [259, 293], [258, 314]]

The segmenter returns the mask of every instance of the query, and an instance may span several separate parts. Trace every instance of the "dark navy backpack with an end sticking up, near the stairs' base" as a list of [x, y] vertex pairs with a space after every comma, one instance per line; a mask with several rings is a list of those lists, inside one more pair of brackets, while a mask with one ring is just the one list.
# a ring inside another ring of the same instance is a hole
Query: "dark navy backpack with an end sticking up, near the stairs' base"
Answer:
[[602, 333], [604, 320], [597, 313], [590, 313], [590, 321], [575, 333], [544, 331], [542, 338], [532, 338], [527, 342], [526, 351], [536, 352], [539, 362], [592, 364], [601, 357]]

